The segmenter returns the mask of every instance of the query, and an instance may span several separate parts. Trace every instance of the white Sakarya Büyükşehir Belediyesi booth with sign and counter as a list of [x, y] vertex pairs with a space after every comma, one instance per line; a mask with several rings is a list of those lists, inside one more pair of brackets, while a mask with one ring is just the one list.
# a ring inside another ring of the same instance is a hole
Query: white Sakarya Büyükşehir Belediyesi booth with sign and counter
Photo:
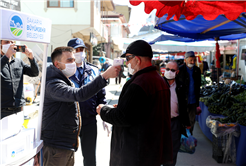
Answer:
[[[42, 165], [43, 141], [40, 140], [46, 78], [47, 48], [50, 43], [51, 20], [0, 8], [0, 39], [44, 44], [38, 123], [24, 129], [24, 110], [0, 120], [0, 165]], [[36, 107], [29, 107], [35, 110]], [[36, 134], [37, 133], [37, 134]]]

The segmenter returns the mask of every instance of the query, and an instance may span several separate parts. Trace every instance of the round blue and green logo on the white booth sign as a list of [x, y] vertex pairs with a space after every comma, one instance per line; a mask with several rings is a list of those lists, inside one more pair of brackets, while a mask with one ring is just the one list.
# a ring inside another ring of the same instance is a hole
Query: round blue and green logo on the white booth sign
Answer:
[[10, 31], [13, 37], [21, 37], [23, 33], [23, 22], [20, 16], [13, 15], [10, 19]]

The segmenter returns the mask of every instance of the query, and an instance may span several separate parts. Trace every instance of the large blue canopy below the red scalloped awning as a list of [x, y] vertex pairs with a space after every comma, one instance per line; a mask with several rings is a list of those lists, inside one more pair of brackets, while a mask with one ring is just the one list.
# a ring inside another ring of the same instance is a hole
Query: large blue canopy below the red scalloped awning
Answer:
[[197, 16], [194, 20], [186, 20], [183, 15], [179, 21], [174, 21], [173, 18], [167, 21], [166, 18], [167, 15], [159, 18], [155, 28], [197, 40], [209, 40], [220, 36], [220, 40], [246, 38], [246, 16], [244, 14], [234, 21], [228, 20], [223, 15], [218, 16], [215, 20], [205, 20], [202, 16]]

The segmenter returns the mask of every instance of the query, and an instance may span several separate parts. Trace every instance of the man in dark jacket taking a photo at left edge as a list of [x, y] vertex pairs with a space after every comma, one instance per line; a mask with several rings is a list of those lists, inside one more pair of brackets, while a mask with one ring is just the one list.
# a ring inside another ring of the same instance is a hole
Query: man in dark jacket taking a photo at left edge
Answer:
[[[22, 111], [25, 105], [23, 93], [23, 74], [30, 77], [38, 76], [38, 64], [32, 50], [25, 46], [23, 52], [30, 65], [15, 58], [14, 41], [0, 40], [0, 120], [6, 116]], [[23, 117], [24, 118], [24, 117]]]

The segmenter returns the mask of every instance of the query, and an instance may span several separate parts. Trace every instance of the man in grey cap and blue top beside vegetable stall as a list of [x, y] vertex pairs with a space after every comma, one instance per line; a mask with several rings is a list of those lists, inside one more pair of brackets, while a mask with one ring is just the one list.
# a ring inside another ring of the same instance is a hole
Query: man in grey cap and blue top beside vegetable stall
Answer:
[[191, 129], [193, 134], [196, 111], [201, 110], [199, 107], [201, 70], [195, 66], [196, 56], [193, 51], [185, 53], [185, 64], [180, 66], [178, 80], [183, 82], [186, 87], [187, 112], [189, 114]]

